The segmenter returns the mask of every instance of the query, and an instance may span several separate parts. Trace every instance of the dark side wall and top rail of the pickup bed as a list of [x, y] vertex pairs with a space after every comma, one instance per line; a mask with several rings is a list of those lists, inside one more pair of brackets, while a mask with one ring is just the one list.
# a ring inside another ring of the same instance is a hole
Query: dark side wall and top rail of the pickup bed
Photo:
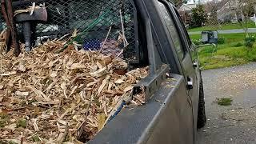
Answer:
[[173, 76], [162, 83], [146, 105], [124, 108], [89, 143], [193, 143], [193, 115], [186, 84], [182, 76]]

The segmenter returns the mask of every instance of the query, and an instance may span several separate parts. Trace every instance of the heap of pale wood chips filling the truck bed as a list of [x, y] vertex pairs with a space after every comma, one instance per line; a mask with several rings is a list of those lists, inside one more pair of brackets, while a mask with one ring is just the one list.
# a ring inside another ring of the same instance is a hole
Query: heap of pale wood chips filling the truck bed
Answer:
[[[79, 143], [93, 138], [148, 68], [48, 41], [29, 54], [0, 54], [0, 140]], [[1, 44], [2, 45], [2, 44]], [[3, 47], [4, 45], [2, 45]], [[139, 99], [139, 98], [138, 98]]]

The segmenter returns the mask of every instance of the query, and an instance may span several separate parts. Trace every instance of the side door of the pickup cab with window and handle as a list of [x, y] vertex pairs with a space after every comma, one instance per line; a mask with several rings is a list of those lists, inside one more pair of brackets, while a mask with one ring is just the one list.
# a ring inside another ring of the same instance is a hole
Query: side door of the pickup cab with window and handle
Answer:
[[194, 66], [194, 63], [197, 62], [197, 57], [193, 57], [195, 61], [193, 62], [191, 54], [195, 53], [191, 53], [192, 42], [190, 42], [186, 28], [181, 18], [179, 18], [177, 10], [170, 2], [164, 0], [159, 2], [159, 6], [161, 7], [162, 15], [164, 15], [166, 26], [174, 43], [174, 48], [178, 54], [178, 60], [182, 70], [181, 74], [184, 75], [187, 84], [186, 92], [189, 96], [193, 112], [192, 121], [194, 122], [194, 134], [196, 134], [198, 115], [198, 75], [196, 71], [198, 68]]

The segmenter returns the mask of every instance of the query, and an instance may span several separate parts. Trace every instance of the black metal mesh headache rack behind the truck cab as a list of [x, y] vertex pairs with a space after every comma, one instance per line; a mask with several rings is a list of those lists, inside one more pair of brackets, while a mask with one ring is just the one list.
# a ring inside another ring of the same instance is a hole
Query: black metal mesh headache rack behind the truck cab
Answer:
[[[81, 36], [76, 42], [84, 50], [99, 50], [106, 39], [103, 54], [120, 54], [123, 50], [122, 58], [130, 63], [139, 62], [137, 10], [132, 0], [17, 0], [13, 1], [13, 10], [25, 10], [32, 2], [46, 6], [48, 17], [47, 22], [35, 26], [37, 41], [61, 38], [78, 30]], [[0, 24], [3, 30], [6, 24], [2, 15]], [[22, 24], [17, 25], [22, 41]], [[122, 34], [126, 41], [120, 42]]]

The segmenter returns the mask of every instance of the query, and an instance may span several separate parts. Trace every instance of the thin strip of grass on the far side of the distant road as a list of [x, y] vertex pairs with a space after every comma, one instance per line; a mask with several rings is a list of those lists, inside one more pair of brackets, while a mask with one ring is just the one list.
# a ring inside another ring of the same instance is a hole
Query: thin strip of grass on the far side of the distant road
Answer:
[[[254, 22], [249, 22], [248, 25], [249, 28], [256, 28]], [[202, 26], [202, 27], [196, 27], [189, 29], [189, 32], [194, 32], [194, 31], [203, 31], [203, 30], [233, 30], [233, 29], [242, 29], [242, 26], [239, 25], [239, 23], [229, 23], [229, 24], [224, 24], [224, 25], [218, 25], [218, 26]]]

